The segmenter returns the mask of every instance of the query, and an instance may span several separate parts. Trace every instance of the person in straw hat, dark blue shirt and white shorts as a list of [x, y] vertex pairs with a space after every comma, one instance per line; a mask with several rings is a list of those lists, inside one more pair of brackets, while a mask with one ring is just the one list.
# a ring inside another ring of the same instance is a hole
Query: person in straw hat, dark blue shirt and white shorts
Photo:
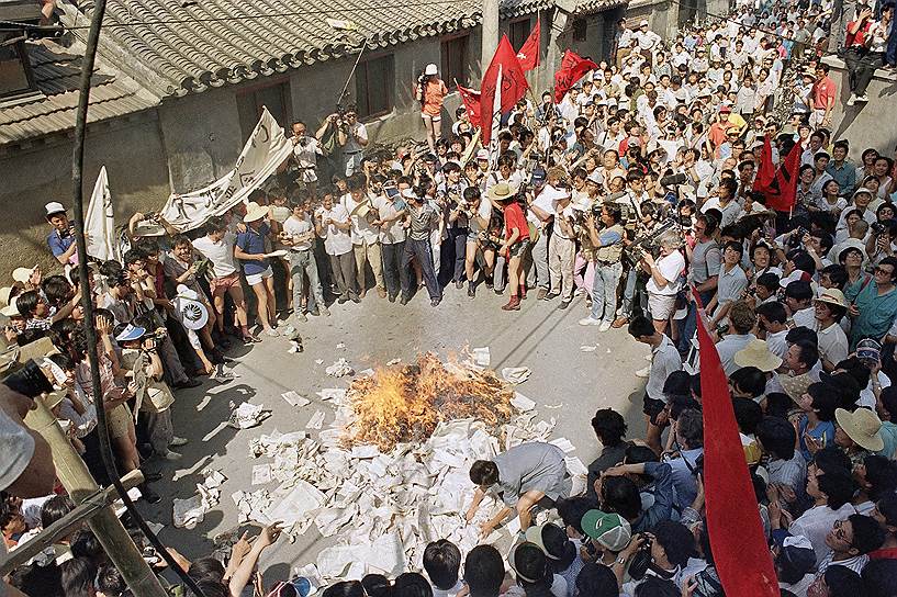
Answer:
[[265, 222], [268, 207], [250, 202], [243, 217], [245, 229], [240, 228], [234, 245], [234, 257], [243, 262], [246, 283], [253, 286], [258, 304], [258, 319], [265, 334], [278, 336], [274, 329], [277, 307], [274, 303], [274, 272], [265, 256], [265, 239], [271, 227]]

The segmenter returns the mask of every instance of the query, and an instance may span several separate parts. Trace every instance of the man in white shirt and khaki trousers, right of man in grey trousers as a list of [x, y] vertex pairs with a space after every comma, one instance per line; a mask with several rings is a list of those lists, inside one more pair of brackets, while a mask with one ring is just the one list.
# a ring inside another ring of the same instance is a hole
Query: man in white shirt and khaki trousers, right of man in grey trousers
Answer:
[[383, 285], [383, 268], [380, 256], [380, 229], [372, 224], [377, 221], [377, 214], [371, 211], [371, 202], [368, 195], [368, 182], [365, 174], [356, 172], [346, 181], [349, 192], [343, 195], [343, 206], [349, 212], [351, 221], [351, 238], [355, 250], [356, 281], [358, 282], [358, 296], [363, 298], [368, 292], [366, 266], [370, 263], [373, 279], [377, 283], [377, 292], [380, 297], [386, 296], [386, 288]]

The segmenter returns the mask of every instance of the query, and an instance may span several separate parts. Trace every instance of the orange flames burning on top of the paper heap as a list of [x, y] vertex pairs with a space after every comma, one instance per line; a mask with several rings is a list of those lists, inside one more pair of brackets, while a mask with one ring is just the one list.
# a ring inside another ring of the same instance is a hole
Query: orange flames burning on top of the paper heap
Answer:
[[473, 417], [497, 427], [511, 417], [514, 391], [493, 371], [444, 364], [428, 352], [414, 364], [355, 380], [348, 397], [356, 416], [348, 443], [389, 451], [399, 442], [426, 440], [445, 420]]

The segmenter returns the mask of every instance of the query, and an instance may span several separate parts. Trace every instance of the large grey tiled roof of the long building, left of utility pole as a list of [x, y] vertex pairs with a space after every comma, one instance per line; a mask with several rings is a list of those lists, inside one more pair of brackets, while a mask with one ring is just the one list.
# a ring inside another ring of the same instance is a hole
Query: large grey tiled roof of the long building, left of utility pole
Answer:
[[[82, 2], [89, 16], [91, 2]], [[254, 79], [474, 26], [478, 0], [112, 0], [101, 53], [130, 58], [135, 79], [162, 95]], [[328, 19], [349, 20], [340, 33]]]

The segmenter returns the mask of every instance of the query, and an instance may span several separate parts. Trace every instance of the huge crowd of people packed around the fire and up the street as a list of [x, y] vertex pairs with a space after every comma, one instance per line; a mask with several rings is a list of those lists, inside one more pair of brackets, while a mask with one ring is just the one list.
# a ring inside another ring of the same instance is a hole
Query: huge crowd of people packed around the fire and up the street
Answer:
[[[93, 322], [71, 221], [48, 203], [59, 271], [19, 268], [0, 289], [4, 548], [74, 508], [45, 441], [22, 423], [20, 378], [33, 371], [19, 350], [45, 348], [35, 364], [55, 388], [47, 406], [108, 484], [98, 408], [122, 473], [178, 460], [177, 390], [226, 382], [232, 345], [287, 336], [301, 349], [303, 326], [339, 317], [346, 302], [403, 308], [426, 288], [433, 307], [444, 293], [494, 292], [505, 312], [526, 300], [578, 309], [584, 336], [625, 327], [651, 352], [635, 372], [647, 380], [644, 430], [595, 414], [599, 455], [583, 495], [570, 495], [553, 446], [474, 464], [468, 519], [490, 494], [505, 507], [484, 536], [519, 518], [511, 570], [491, 545], [462, 554], [439, 540], [422, 572], [337, 583], [325, 597], [724, 595], [704, 520], [698, 322], [729, 380], [755, 488], [744, 499], [756, 500], [782, 595], [894, 597], [897, 153], [834, 138], [839, 90], [821, 59], [830, 36], [843, 40], [848, 103], [867, 103], [874, 70], [897, 64], [894, 4], [861, 0], [834, 20], [825, 4], [751, 3], [669, 41], [647, 21], [621, 25], [613, 55], [562, 101], [546, 91], [503, 114], [493, 147], [474, 145], [463, 108], [441, 126], [448, 87], [436, 65], [415, 88], [426, 148], [370, 147], [351, 105], [315, 134], [296, 122], [291, 157], [246, 204], [187, 233], [136, 213], [121, 259], [89, 258]], [[764, 147], [781, 167], [796, 144], [794, 205], [776, 212], [754, 189]], [[142, 499], [159, 502], [160, 474], [143, 472]], [[536, 525], [538, 509], [554, 521]], [[306, 597], [304, 578], [253, 581], [279, 532], [244, 536], [226, 562], [175, 555], [210, 597], [247, 585]], [[87, 529], [7, 581], [0, 595], [130, 595]]]

